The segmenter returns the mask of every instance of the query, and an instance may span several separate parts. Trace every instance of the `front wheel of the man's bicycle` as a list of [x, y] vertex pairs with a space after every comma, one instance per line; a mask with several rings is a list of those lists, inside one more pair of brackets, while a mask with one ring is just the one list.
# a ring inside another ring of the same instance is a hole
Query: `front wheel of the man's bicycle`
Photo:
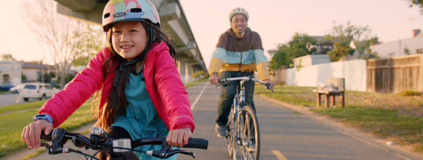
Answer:
[[236, 119], [234, 136], [234, 160], [258, 160], [260, 155], [260, 132], [257, 116], [250, 106], [242, 108]]

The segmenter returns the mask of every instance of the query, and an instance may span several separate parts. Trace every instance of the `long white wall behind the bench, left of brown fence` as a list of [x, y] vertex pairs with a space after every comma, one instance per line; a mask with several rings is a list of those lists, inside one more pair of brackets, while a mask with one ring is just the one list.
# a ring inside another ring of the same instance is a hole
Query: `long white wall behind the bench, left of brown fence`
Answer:
[[286, 71], [286, 84], [317, 87], [326, 78], [345, 78], [345, 89], [366, 91], [366, 61], [362, 59], [323, 63]]

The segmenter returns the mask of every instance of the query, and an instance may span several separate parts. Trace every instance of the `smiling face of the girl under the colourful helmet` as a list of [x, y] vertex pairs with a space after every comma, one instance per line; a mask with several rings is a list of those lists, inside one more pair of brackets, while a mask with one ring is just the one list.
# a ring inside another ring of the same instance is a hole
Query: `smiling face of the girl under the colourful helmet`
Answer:
[[140, 21], [121, 21], [113, 24], [112, 46], [127, 60], [134, 59], [147, 45], [147, 31]]

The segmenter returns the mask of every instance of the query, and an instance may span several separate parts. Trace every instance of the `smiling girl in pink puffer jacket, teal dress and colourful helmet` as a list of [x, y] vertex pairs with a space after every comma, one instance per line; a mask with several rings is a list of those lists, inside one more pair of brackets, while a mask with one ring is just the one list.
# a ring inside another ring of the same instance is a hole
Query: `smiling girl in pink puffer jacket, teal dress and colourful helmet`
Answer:
[[[109, 47], [43, 105], [35, 122], [24, 128], [22, 139], [29, 148], [39, 148], [41, 131], [48, 135], [94, 92], [101, 91], [99, 106], [93, 107], [99, 108], [99, 125], [109, 137], [167, 136], [169, 145], [186, 145], [194, 130], [190, 102], [172, 59], [175, 48], [160, 30], [157, 9], [150, 0], [109, 0], [102, 18]], [[160, 146], [140, 150], [155, 147]], [[105, 160], [106, 155], [99, 158]]]

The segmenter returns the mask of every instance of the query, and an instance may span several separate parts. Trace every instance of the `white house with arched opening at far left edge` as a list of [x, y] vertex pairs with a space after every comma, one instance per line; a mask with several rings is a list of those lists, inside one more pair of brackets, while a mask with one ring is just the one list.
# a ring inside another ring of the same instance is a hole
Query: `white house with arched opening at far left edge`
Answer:
[[0, 61], [0, 83], [20, 84], [22, 81], [22, 62]]

